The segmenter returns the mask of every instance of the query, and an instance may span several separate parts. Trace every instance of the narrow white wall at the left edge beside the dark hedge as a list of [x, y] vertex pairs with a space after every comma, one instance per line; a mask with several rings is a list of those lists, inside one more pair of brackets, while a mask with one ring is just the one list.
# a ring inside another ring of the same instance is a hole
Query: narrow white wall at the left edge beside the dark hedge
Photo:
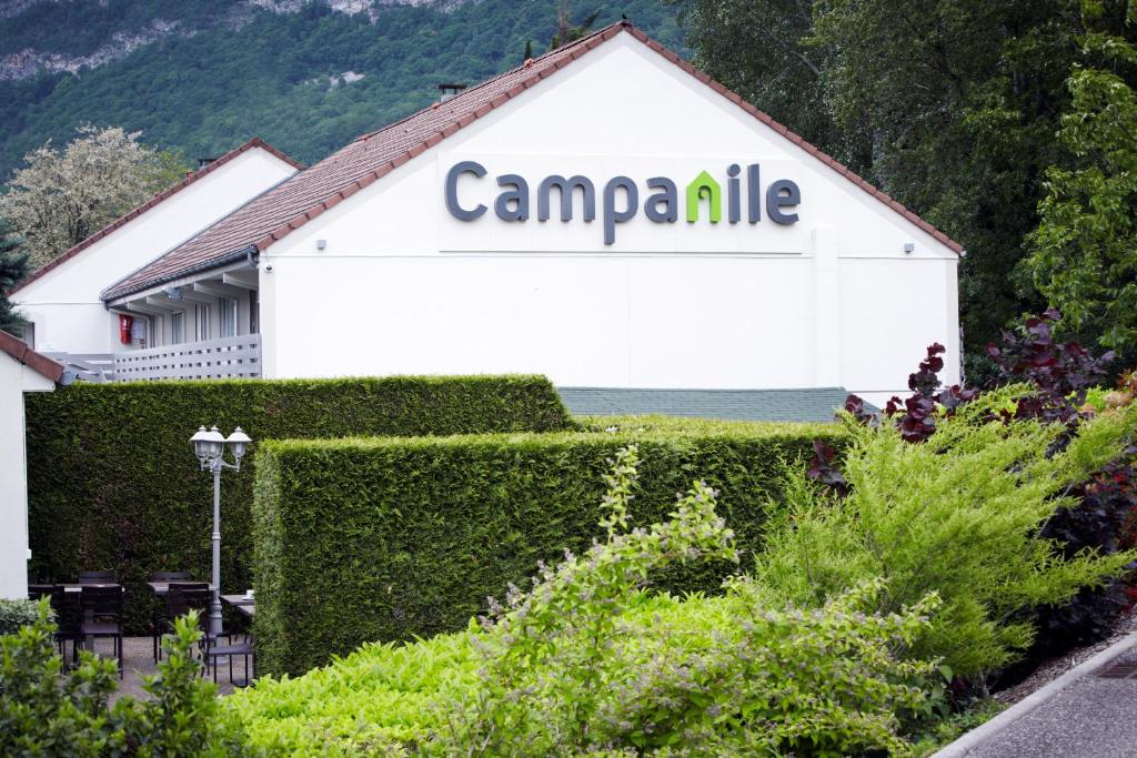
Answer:
[[24, 391], [55, 384], [0, 352], [0, 598], [27, 597], [27, 464]]

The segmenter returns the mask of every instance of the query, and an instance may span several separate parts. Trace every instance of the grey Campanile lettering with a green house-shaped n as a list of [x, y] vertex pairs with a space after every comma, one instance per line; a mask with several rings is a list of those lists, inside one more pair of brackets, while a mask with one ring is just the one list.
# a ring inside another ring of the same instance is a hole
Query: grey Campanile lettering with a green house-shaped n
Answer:
[[641, 184], [624, 175], [598, 182], [581, 174], [548, 174], [531, 182], [515, 173], [496, 174], [492, 180], [489, 174], [476, 160], [459, 160], [449, 167], [445, 200], [450, 216], [462, 222], [488, 217], [490, 207], [478, 200], [484, 189], [479, 193], [478, 185], [495, 183], [491, 203], [492, 216], [498, 220], [530, 222], [534, 206], [538, 223], [549, 222], [556, 215], [562, 223], [589, 224], [599, 213], [606, 245], [615, 243], [617, 225], [631, 222], [641, 210], [655, 224], [675, 224], [681, 217], [688, 224], [719, 224], [725, 211], [728, 224], [758, 225], [765, 218], [788, 226], [797, 223], [797, 208], [802, 203], [802, 190], [791, 180], [774, 180], [763, 190], [762, 165], [757, 163], [745, 167], [729, 164], [720, 178], [704, 169], [682, 190], [667, 176], [652, 176]]

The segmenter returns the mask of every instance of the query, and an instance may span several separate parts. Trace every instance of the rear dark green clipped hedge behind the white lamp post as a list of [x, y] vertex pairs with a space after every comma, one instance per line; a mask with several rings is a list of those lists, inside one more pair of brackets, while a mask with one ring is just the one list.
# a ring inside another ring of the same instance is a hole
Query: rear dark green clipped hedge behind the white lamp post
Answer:
[[[149, 618], [153, 570], [209, 576], [213, 486], [190, 435], [242, 426], [254, 440], [554, 431], [571, 425], [540, 376], [74, 384], [26, 395], [32, 573], [74, 580], [113, 568], [128, 631]], [[222, 475], [223, 588], [251, 583], [247, 468]]]

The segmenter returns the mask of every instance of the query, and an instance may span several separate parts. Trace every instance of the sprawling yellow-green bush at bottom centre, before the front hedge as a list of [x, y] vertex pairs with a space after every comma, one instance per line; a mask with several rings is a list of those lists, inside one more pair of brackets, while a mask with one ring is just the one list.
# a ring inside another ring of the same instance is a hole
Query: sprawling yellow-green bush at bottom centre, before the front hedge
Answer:
[[849, 755], [907, 752], [943, 692], [932, 663], [893, 648], [928, 627], [928, 595], [877, 613], [879, 582], [821, 610], [779, 606], [746, 578], [720, 597], [646, 589], [675, 563], [738, 549], [696, 483], [671, 519], [626, 530], [634, 449], [608, 478], [607, 536], [543, 568], [465, 632], [368, 644], [225, 701], [280, 755]]

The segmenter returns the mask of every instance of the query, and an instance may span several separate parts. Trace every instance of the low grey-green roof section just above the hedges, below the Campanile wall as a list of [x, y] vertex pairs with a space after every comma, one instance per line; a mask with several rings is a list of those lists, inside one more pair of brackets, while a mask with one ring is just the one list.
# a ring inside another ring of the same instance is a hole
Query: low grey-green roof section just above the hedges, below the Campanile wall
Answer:
[[839, 386], [804, 390], [639, 390], [557, 388], [579, 416], [663, 414], [749, 422], [831, 422], [848, 391]]

